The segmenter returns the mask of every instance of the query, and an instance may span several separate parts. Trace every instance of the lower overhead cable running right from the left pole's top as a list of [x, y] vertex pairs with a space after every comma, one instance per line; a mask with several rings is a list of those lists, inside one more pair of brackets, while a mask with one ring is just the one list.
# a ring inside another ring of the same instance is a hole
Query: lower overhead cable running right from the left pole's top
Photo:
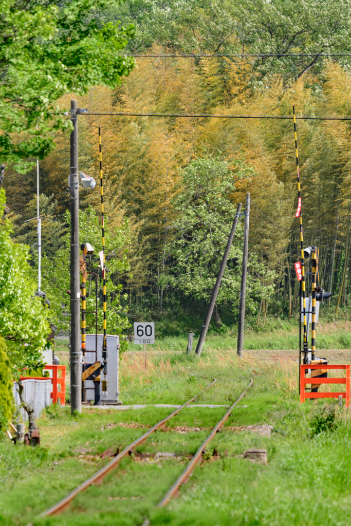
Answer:
[[[288, 119], [292, 120], [293, 116], [289, 115], [214, 115], [211, 113], [132, 113], [132, 112], [83, 112], [78, 110], [79, 115], [119, 115], [124, 117], [190, 117], [190, 118], [212, 118], [212, 119]], [[333, 117], [333, 116], [312, 116], [305, 115], [296, 117], [300, 120], [351, 120], [351, 116]]]

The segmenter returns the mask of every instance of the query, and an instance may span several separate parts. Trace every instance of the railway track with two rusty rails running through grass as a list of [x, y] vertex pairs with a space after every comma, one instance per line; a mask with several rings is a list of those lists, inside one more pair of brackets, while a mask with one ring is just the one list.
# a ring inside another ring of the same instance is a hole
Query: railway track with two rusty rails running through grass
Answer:
[[[136, 440], [134, 440], [134, 442], [132, 442], [131, 444], [126, 446], [123, 449], [123, 451], [121, 451], [121, 453], [119, 453], [113, 460], [108, 462], [103, 468], [99, 469], [96, 473], [94, 473], [94, 475], [92, 477], [88, 478], [82, 484], [79, 484], [73, 491], [68, 493], [68, 495], [66, 495], [66, 497], [64, 497], [59, 502], [57, 502], [56, 504], [54, 504], [53, 506], [51, 506], [50, 508], [45, 510], [43, 513], [41, 513], [41, 515], [39, 515], [39, 517], [43, 518], [43, 517], [48, 517], [50, 515], [57, 515], [59, 513], [62, 513], [64, 510], [66, 510], [69, 507], [69, 505], [71, 504], [71, 502], [73, 501], [73, 499], [76, 497], [76, 495], [78, 493], [84, 491], [85, 489], [87, 489], [92, 484], [100, 484], [103, 481], [104, 477], [107, 475], [107, 473], [109, 473], [113, 469], [117, 468], [119, 461], [121, 461], [129, 453], [134, 452], [133, 448], [135, 448], [136, 446], [139, 446], [140, 444], [145, 442], [145, 440], [154, 431], [156, 431], [157, 429], [164, 428], [165, 427], [165, 423], [169, 419], [174, 417], [179, 411], [181, 411], [186, 406], [188, 406], [188, 404], [190, 402], [193, 402], [194, 400], [196, 400], [196, 398], [200, 395], [200, 393], [202, 393], [202, 392], [206, 391], [207, 389], [209, 389], [210, 387], [212, 387], [215, 382], [216, 382], [216, 379], [213, 379], [213, 381], [210, 382], [209, 385], [206, 386], [204, 389], [199, 391], [197, 393], [197, 395], [195, 395], [193, 398], [190, 398], [189, 400], [187, 400], [182, 406], [180, 406], [179, 408], [175, 409], [167, 417], [165, 417], [162, 420], [160, 420], [159, 422], [157, 422], [151, 429], [146, 431], [146, 433], [144, 433], [141, 437], [137, 438]], [[158, 507], [163, 507], [164, 505], [166, 505], [169, 502], [169, 500], [172, 497], [175, 497], [178, 494], [180, 485], [187, 482], [187, 480], [189, 479], [190, 473], [194, 470], [196, 465], [202, 460], [202, 453], [206, 449], [207, 444], [216, 436], [216, 433], [218, 432], [218, 430], [224, 426], [224, 423], [229, 418], [230, 413], [232, 412], [233, 408], [245, 396], [247, 390], [252, 385], [253, 385], [253, 379], [250, 378], [249, 385], [242, 392], [242, 394], [239, 396], [239, 398], [232, 404], [232, 406], [230, 406], [230, 408], [227, 410], [227, 412], [224, 414], [224, 416], [216, 423], [216, 425], [214, 426], [213, 430], [210, 432], [210, 434], [208, 435], [206, 440], [198, 448], [198, 450], [196, 451], [196, 453], [193, 456], [192, 460], [190, 460], [190, 462], [188, 463], [188, 465], [185, 468], [185, 470], [183, 471], [183, 473], [180, 474], [180, 476], [177, 478], [177, 480], [172, 485], [172, 487], [167, 491], [165, 497], [161, 500], [161, 502], [159, 502]]]

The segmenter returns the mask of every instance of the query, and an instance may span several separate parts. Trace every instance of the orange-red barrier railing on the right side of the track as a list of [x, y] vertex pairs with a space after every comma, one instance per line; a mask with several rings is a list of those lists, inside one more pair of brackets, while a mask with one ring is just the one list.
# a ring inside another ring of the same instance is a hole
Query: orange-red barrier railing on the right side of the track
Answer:
[[[306, 398], [338, 398], [342, 396], [345, 398], [346, 407], [349, 407], [350, 404], [350, 366], [349, 365], [327, 365], [326, 363], [315, 364], [311, 363], [310, 365], [302, 365], [301, 375], [300, 375], [300, 403], [304, 403]], [[346, 377], [344, 378], [308, 378], [306, 377], [306, 372], [309, 369], [345, 369]], [[305, 386], [309, 383], [310, 385], [317, 384], [322, 385], [322, 383], [345, 383], [346, 389], [345, 392], [306, 392]]]

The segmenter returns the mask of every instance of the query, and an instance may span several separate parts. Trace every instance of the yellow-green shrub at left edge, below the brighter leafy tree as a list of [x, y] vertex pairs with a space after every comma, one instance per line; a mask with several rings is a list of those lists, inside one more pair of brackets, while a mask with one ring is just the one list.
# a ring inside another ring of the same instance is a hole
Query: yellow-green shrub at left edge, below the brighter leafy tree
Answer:
[[0, 435], [4, 436], [13, 413], [13, 379], [6, 343], [0, 336]]

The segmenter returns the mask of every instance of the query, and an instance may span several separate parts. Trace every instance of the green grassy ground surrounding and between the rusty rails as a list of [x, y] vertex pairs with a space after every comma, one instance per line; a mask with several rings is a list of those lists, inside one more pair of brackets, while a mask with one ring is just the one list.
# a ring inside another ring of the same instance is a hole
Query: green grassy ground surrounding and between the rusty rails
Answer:
[[[179, 498], [165, 509], [158, 509], [157, 503], [226, 408], [185, 408], [136, 448], [135, 457], [125, 458], [102, 485], [78, 494], [71, 509], [39, 519], [43, 510], [108, 461], [101, 459], [103, 451], [121, 450], [170, 412], [155, 407], [84, 408], [71, 416], [69, 407], [47, 408], [38, 421], [40, 448], [0, 443], [1, 526], [139, 526], [145, 518], [152, 526], [350, 523], [350, 413], [334, 401], [300, 406], [295, 362], [240, 360], [227, 351], [204, 353], [196, 360], [155, 355], [148, 359], [146, 375], [138, 354], [127, 355], [122, 363], [125, 403], [182, 403], [215, 377], [217, 382], [198, 403], [229, 405], [250, 376], [254, 385], [209, 444]], [[270, 436], [245, 429], [262, 424], [273, 426]], [[266, 449], [268, 464], [237, 457], [248, 448]], [[158, 452], [176, 457], [138, 457]]]

